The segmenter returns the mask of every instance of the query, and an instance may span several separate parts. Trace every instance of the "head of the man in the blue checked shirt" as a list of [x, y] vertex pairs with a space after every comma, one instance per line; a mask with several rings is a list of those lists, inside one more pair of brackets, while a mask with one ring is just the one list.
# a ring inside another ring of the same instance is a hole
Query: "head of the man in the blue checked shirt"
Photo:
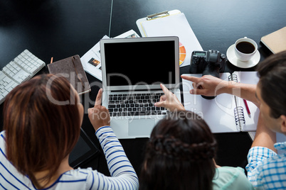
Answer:
[[257, 70], [256, 96], [265, 125], [286, 134], [286, 51], [271, 55]]

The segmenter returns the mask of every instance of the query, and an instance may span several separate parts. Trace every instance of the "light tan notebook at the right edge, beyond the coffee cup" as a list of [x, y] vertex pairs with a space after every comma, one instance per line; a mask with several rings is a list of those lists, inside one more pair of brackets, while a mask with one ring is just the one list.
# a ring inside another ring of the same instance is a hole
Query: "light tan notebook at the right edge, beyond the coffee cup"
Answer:
[[263, 36], [261, 42], [268, 47], [272, 53], [286, 50], [286, 27]]

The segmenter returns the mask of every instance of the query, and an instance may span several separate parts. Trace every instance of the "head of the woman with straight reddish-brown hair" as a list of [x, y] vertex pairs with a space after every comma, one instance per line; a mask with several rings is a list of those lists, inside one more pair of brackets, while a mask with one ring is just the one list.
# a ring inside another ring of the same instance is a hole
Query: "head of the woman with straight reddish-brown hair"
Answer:
[[23, 82], [4, 102], [7, 159], [39, 186], [34, 174], [53, 177], [77, 143], [82, 120], [83, 105], [65, 77], [43, 74]]

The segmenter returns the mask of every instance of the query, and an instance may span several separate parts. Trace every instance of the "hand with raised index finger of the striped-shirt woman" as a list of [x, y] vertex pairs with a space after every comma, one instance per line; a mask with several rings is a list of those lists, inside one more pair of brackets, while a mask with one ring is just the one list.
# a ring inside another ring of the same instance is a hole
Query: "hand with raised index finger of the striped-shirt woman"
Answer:
[[95, 128], [95, 131], [102, 126], [110, 125], [110, 113], [105, 106], [101, 106], [101, 99], [102, 89], [97, 93], [95, 106], [88, 108], [88, 118], [90, 118], [90, 123]]

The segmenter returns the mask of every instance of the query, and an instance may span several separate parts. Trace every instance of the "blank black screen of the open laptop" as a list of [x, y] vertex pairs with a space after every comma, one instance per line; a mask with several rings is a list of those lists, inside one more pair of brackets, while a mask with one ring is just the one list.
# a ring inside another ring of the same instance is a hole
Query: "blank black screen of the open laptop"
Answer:
[[107, 86], [175, 84], [174, 43], [105, 43]]

